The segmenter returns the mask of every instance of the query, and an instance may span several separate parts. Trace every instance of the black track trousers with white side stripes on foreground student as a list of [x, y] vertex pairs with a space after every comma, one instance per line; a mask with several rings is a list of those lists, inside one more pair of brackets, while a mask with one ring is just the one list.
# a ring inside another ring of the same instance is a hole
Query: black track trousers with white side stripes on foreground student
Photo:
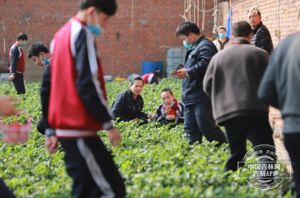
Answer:
[[124, 197], [124, 180], [98, 137], [59, 139], [72, 178], [72, 197]]

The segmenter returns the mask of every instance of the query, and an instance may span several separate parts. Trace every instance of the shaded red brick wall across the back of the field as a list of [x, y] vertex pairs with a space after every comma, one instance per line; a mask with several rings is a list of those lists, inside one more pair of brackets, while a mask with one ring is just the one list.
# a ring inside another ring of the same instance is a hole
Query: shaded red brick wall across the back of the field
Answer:
[[[76, 13], [77, 2], [0, 0], [0, 67], [8, 65], [7, 53], [19, 31], [25, 32], [30, 40], [49, 45], [57, 29]], [[107, 74], [139, 73], [142, 60], [162, 60], [165, 64], [165, 46], [182, 46], [174, 31], [183, 21], [179, 16], [183, 14], [183, 0], [134, 0], [133, 31], [131, 2], [118, 0], [116, 15], [110, 19], [103, 35], [97, 38]], [[206, 2], [206, 9], [211, 7], [213, 1]], [[193, 19], [193, 7], [191, 10]], [[208, 36], [211, 36], [213, 22], [211, 14], [212, 11], [209, 11], [205, 15], [204, 33]], [[200, 14], [200, 21], [201, 18]], [[6, 38], [6, 53], [3, 52], [3, 36]]]

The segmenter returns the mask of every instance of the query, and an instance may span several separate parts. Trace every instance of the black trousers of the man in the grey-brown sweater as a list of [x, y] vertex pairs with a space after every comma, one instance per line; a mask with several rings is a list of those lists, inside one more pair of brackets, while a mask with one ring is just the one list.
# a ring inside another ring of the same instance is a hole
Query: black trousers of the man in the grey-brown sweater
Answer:
[[260, 144], [274, 146], [273, 131], [267, 117], [238, 116], [222, 124], [226, 129], [231, 154], [225, 165], [225, 171], [237, 169], [237, 162], [242, 161], [246, 154], [246, 138], [253, 143], [253, 146]]

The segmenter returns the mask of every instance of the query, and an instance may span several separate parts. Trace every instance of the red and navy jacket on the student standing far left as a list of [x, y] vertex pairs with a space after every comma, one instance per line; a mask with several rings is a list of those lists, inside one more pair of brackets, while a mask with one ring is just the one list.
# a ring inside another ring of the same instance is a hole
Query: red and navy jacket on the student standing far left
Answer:
[[25, 70], [25, 54], [22, 48], [16, 44], [11, 46], [9, 50], [9, 72], [15, 74], [15, 72], [23, 74]]

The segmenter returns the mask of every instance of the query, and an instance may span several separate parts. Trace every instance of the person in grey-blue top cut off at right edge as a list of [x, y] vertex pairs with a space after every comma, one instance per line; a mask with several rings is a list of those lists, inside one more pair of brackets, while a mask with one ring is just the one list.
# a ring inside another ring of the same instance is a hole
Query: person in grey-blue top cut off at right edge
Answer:
[[300, 32], [274, 50], [258, 88], [258, 97], [281, 110], [284, 145], [288, 151], [295, 191], [300, 197]]

